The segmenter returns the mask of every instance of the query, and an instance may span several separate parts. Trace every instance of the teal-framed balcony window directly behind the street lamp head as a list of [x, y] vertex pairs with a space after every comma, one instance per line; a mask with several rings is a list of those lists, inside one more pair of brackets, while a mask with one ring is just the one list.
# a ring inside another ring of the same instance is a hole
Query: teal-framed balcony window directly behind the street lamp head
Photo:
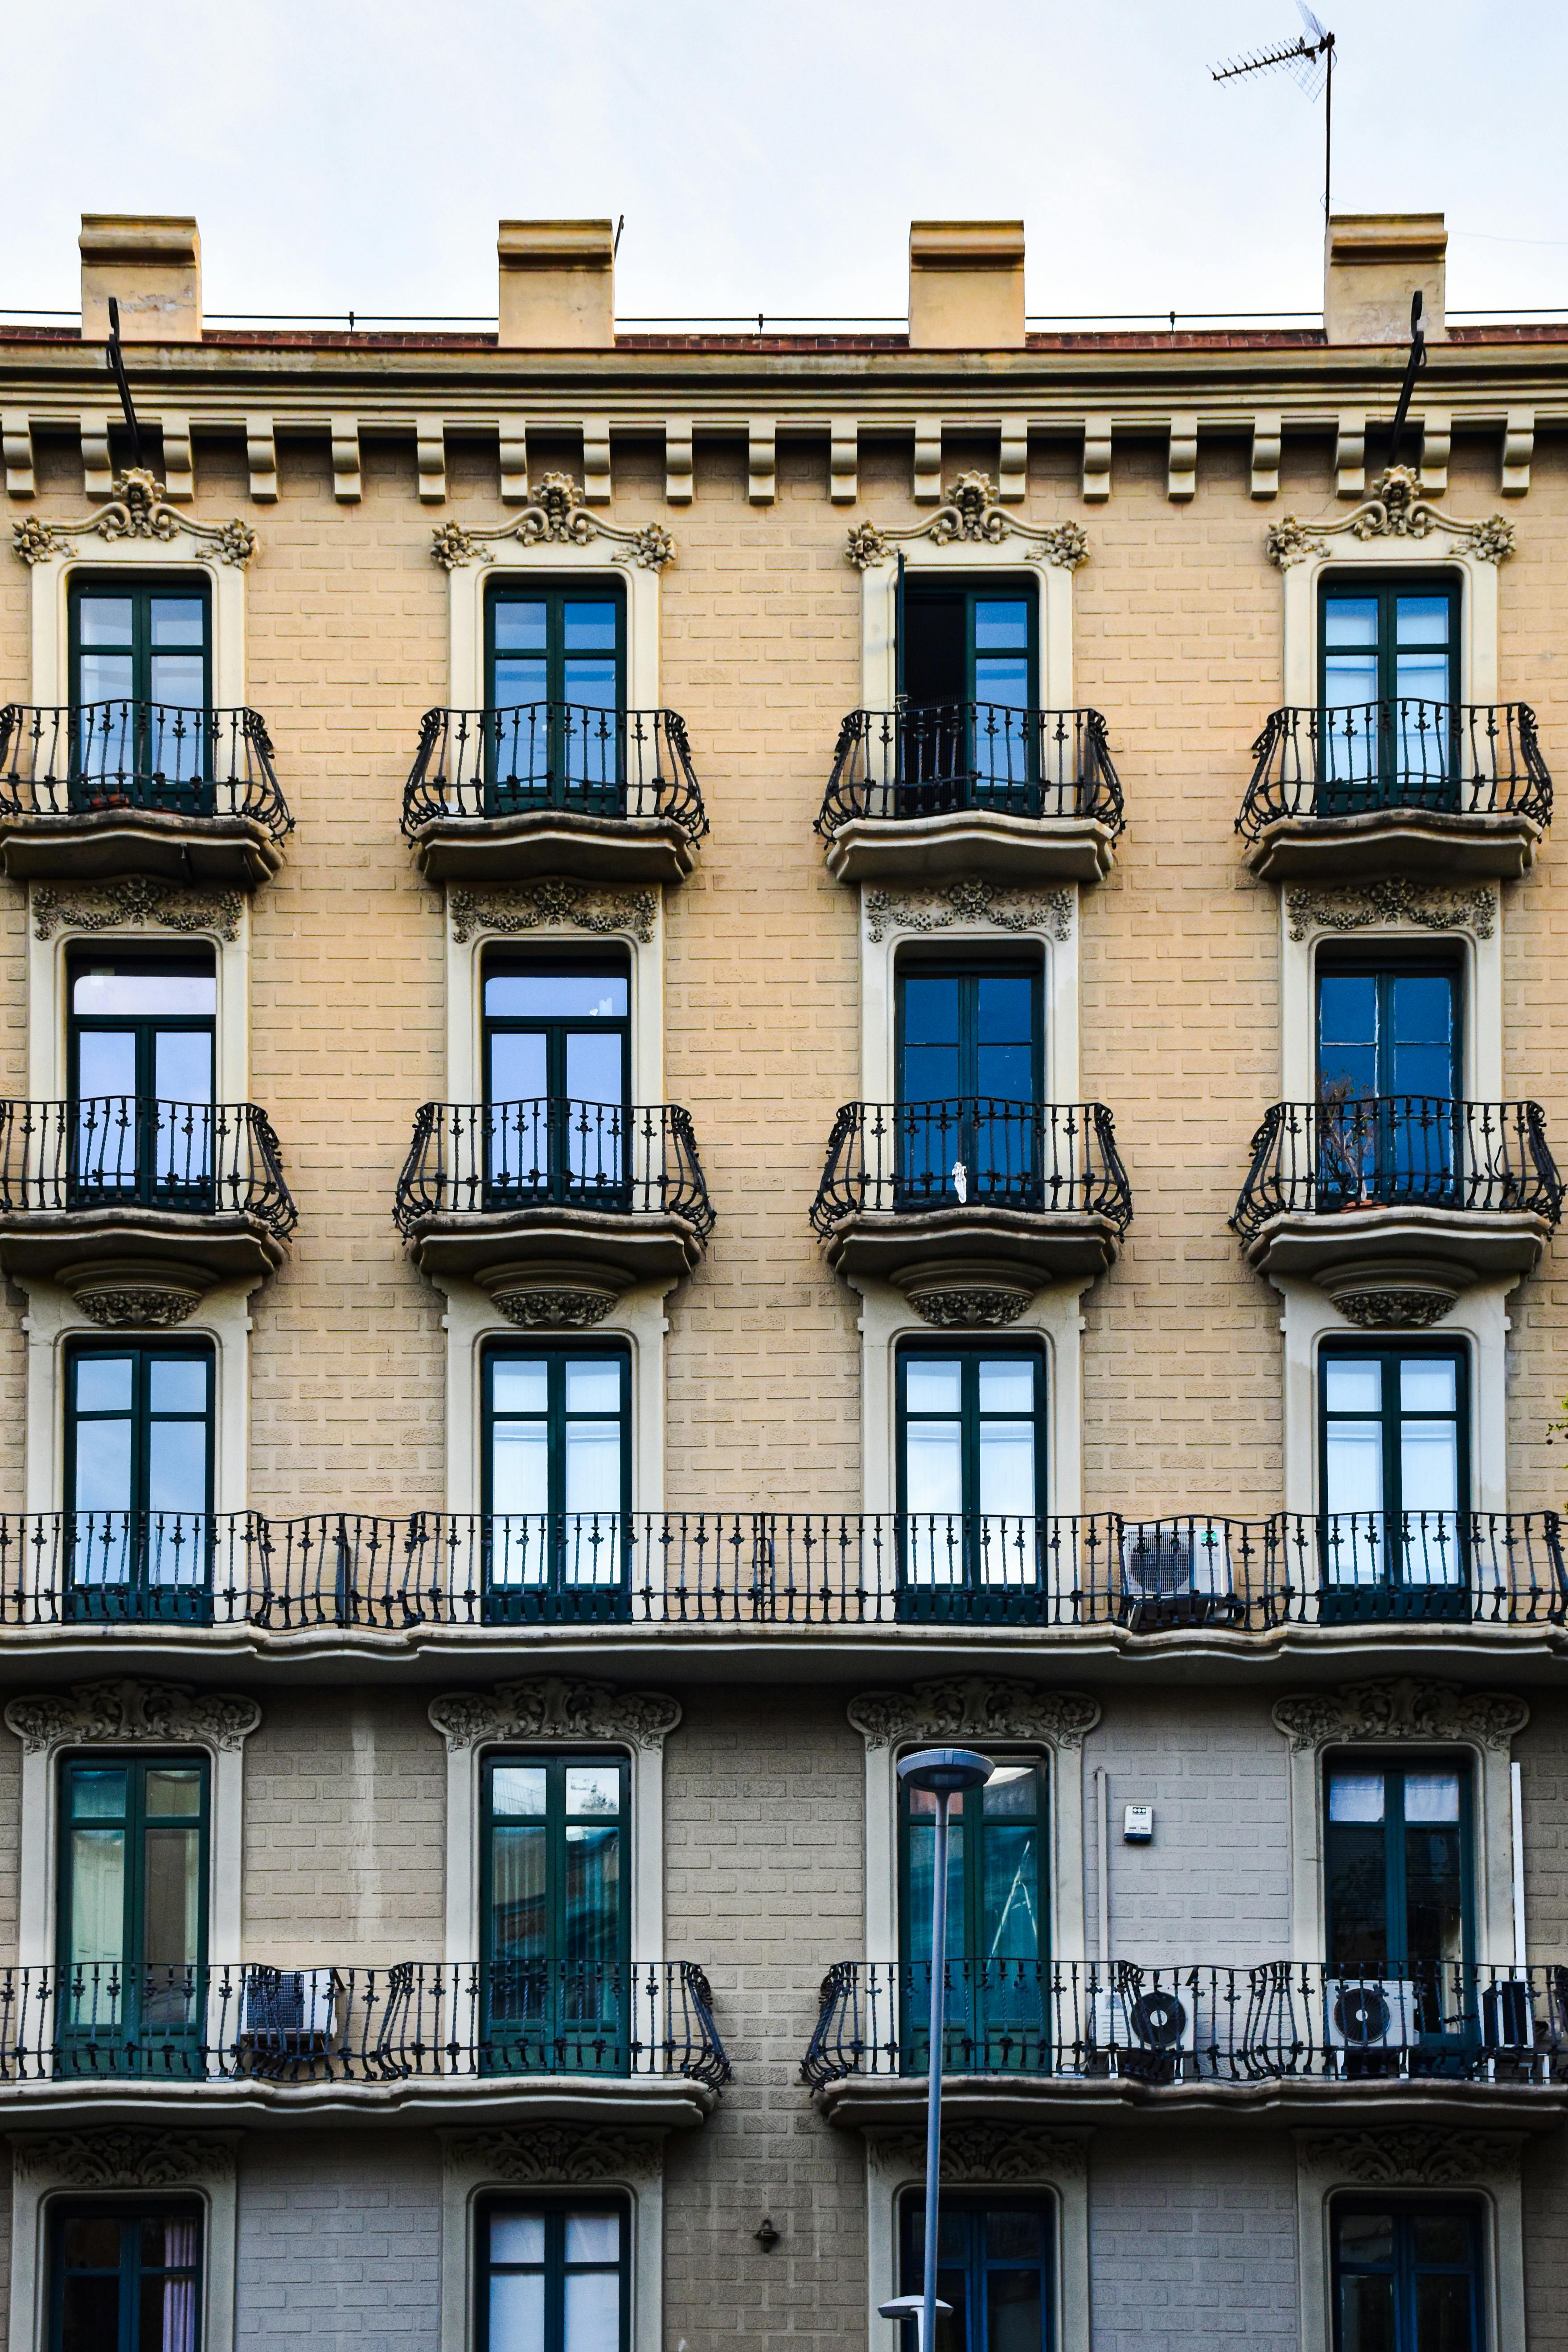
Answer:
[[[931, 1872], [936, 1799], [900, 1790], [903, 2051], [931, 2051]], [[1039, 2070], [1051, 2034], [1046, 1959], [1046, 1766], [997, 1757], [983, 1790], [947, 1813], [947, 2072]]]

